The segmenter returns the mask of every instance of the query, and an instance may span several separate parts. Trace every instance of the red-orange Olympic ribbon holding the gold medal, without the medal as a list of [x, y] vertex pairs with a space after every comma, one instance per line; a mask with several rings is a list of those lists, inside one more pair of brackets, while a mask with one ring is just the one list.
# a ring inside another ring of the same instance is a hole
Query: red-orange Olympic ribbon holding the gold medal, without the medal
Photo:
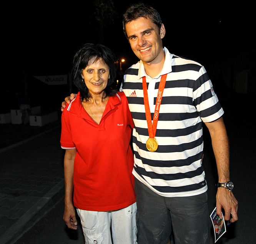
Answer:
[[146, 83], [146, 77], [142, 77], [142, 87], [143, 87], [143, 94], [144, 94], [144, 105], [145, 105], [145, 112], [146, 112], [146, 120], [148, 123], [148, 135], [150, 138], [155, 138], [156, 135], [156, 126], [159, 118], [159, 110], [160, 105], [162, 102], [163, 97], [163, 90], [165, 89], [165, 82], [166, 82], [167, 74], [161, 75], [160, 84], [158, 87], [158, 94], [156, 98], [156, 106], [155, 106], [155, 113], [153, 117], [153, 125], [151, 122], [151, 113], [150, 113], [150, 106], [148, 102], [148, 88]]

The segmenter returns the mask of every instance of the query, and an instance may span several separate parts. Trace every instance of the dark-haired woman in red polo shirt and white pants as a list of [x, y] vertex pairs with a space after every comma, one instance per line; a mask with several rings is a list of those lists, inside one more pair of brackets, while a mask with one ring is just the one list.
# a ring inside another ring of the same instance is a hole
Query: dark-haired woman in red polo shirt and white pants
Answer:
[[111, 237], [114, 244], [136, 243], [133, 120], [125, 95], [111, 88], [115, 75], [110, 49], [84, 44], [73, 59], [72, 78], [79, 92], [62, 113], [63, 219], [68, 228], [77, 229], [77, 209], [85, 243], [109, 244]]

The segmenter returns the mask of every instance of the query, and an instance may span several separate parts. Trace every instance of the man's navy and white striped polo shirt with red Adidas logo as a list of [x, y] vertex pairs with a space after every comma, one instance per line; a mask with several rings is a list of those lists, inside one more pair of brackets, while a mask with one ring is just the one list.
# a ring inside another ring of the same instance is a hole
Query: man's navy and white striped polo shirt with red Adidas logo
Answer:
[[[206, 192], [202, 165], [203, 122], [220, 118], [224, 111], [206, 70], [198, 62], [165, 51], [163, 69], [149, 77], [142, 61], [126, 70], [120, 90], [125, 93], [133, 129], [134, 176], [164, 197], [186, 197]], [[146, 149], [149, 138], [143, 101], [146, 76], [151, 118], [155, 111], [161, 75], [167, 74], [156, 129], [158, 149]]]

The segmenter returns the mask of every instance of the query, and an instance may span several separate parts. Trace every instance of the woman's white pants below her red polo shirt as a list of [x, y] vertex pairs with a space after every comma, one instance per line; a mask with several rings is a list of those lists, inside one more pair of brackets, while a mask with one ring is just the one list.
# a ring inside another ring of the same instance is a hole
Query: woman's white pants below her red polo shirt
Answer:
[[115, 211], [77, 209], [85, 244], [136, 244], [136, 211], [136, 203]]

